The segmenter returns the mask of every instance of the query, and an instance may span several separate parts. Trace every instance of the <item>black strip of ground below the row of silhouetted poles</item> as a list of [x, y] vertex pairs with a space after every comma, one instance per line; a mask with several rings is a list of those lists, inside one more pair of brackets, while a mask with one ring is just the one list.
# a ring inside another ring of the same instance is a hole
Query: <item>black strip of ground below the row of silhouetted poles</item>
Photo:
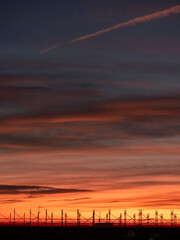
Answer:
[[[135, 235], [135, 236], [134, 236]], [[133, 237], [134, 236], [134, 237]], [[0, 227], [0, 240], [180, 240], [180, 228]]]

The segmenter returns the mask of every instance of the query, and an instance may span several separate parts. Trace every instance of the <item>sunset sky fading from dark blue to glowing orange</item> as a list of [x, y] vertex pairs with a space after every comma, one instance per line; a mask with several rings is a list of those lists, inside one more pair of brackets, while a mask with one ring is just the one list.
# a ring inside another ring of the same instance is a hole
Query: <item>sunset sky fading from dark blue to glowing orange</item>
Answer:
[[179, 9], [1, 0], [0, 213], [179, 211]]

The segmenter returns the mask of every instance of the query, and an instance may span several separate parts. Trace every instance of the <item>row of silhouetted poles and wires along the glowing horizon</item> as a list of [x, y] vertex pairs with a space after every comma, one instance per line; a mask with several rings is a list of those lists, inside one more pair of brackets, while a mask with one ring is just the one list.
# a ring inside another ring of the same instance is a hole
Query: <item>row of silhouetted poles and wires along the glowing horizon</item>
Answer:
[[170, 212], [169, 218], [164, 218], [163, 214], [159, 214], [155, 211], [155, 216], [150, 217], [149, 214], [143, 214], [142, 210], [139, 213], [129, 215], [126, 210], [120, 213], [119, 216], [115, 216], [111, 213], [111, 210], [105, 215], [100, 217], [95, 210], [92, 215], [87, 218], [80, 213], [79, 209], [76, 213], [76, 218], [71, 217], [70, 214], [64, 212], [62, 209], [59, 214], [59, 218], [54, 217], [53, 213], [49, 213], [45, 210], [43, 217], [40, 215], [40, 211], [34, 214], [31, 210], [29, 214], [24, 213], [20, 216], [14, 209], [13, 214], [9, 214], [8, 217], [0, 214], [0, 226], [26, 226], [26, 227], [180, 227], [179, 214]]

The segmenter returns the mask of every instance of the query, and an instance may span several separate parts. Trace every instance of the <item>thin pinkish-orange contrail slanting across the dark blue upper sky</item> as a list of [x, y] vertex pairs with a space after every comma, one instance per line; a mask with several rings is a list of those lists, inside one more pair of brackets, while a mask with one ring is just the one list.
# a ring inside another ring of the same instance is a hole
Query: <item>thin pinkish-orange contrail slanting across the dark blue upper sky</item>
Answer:
[[[98, 32], [94, 32], [94, 33], [91, 33], [91, 34], [88, 34], [88, 35], [84, 35], [84, 36], [79, 37], [79, 38], [75, 38], [73, 40], [70, 40], [70, 41], [66, 42], [66, 44], [83, 41], [83, 40], [86, 40], [88, 38], [93, 38], [95, 36], [98, 36], [98, 35], [101, 35], [101, 34], [104, 34], [104, 33], [110, 32], [110, 31], [113, 31], [113, 30], [118, 29], [118, 28], [134, 26], [134, 25], [136, 25], [138, 23], [145, 23], [145, 22], [149, 22], [149, 21], [153, 21], [153, 20], [158, 20], [158, 19], [169, 17], [170, 15], [173, 15], [173, 14], [178, 14], [178, 13], [180, 13], [180, 5], [177, 5], [177, 6], [174, 6], [174, 7], [165, 9], [165, 10], [162, 10], [162, 11], [158, 11], [158, 12], [155, 12], [155, 13], [147, 14], [147, 15], [142, 16], [142, 17], [137, 17], [137, 18], [134, 18], [134, 19], [129, 20], [127, 22], [119, 23], [119, 24], [116, 24], [116, 25], [114, 25], [112, 27], [102, 29], [102, 30], [100, 30]], [[51, 46], [51, 47], [49, 47], [47, 49], [42, 50], [39, 54], [43, 54], [45, 52], [48, 52], [48, 51], [50, 51], [50, 50], [52, 50], [54, 48], [57, 48], [60, 45], [61, 45], [61, 43], [53, 45], [53, 46]]]

